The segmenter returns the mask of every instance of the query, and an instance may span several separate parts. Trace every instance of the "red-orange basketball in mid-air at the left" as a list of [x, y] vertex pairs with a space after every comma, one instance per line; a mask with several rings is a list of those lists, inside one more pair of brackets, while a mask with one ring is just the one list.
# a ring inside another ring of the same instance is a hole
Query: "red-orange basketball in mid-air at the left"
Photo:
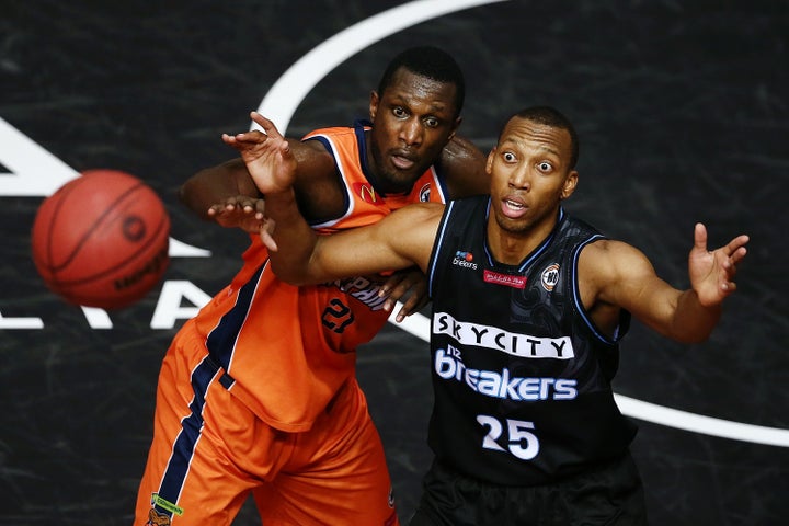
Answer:
[[89, 170], [39, 206], [33, 262], [66, 301], [119, 309], [141, 299], [170, 263], [170, 217], [156, 192], [116, 170]]

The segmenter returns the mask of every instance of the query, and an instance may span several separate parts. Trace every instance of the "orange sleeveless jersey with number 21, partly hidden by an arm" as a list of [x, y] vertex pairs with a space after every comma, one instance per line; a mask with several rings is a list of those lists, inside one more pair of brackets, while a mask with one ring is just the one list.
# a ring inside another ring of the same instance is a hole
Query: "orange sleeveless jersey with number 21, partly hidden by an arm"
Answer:
[[[346, 191], [346, 213], [315, 225], [331, 232], [373, 224], [408, 203], [446, 202], [446, 185], [431, 167], [408, 195], [384, 197], [361, 168], [364, 129], [315, 130], [333, 155]], [[342, 384], [355, 374], [355, 350], [386, 323], [378, 298], [382, 277], [356, 277], [294, 287], [271, 271], [258, 236], [243, 267], [195, 317], [210, 358], [226, 371], [222, 384], [268, 425], [307, 431]]]

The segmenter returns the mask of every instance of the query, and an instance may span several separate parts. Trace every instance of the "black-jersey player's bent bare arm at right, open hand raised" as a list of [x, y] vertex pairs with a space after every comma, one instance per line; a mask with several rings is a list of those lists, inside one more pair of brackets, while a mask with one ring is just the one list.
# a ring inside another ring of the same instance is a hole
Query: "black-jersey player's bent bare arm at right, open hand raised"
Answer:
[[721, 304], [736, 289], [736, 265], [745, 258], [748, 238], [739, 236], [711, 252], [704, 225], [696, 225], [694, 238], [687, 290], [661, 279], [647, 256], [627, 243], [603, 241], [585, 248], [579, 272], [584, 305], [592, 306], [593, 318], [615, 306], [673, 340], [706, 340], [720, 319]]

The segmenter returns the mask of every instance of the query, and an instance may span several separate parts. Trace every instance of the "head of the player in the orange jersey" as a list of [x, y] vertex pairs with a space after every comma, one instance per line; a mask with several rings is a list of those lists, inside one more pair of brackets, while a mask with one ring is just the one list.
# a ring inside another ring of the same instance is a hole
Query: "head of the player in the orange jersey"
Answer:
[[369, 169], [387, 192], [403, 192], [441, 157], [460, 125], [460, 67], [431, 46], [397, 55], [370, 94]]

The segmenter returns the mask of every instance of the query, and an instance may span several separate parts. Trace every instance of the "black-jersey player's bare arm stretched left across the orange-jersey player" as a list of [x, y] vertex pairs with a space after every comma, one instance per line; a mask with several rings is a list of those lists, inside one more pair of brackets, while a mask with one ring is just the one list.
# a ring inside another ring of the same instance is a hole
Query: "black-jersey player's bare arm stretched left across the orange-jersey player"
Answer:
[[414, 264], [426, 268], [442, 205], [411, 205], [368, 227], [317, 236], [296, 204], [296, 160], [287, 140], [268, 119], [252, 116], [265, 135], [253, 130], [222, 138], [241, 152], [258, 188], [266, 195], [266, 216], [273, 225], [261, 236], [281, 279], [302, 285]]

